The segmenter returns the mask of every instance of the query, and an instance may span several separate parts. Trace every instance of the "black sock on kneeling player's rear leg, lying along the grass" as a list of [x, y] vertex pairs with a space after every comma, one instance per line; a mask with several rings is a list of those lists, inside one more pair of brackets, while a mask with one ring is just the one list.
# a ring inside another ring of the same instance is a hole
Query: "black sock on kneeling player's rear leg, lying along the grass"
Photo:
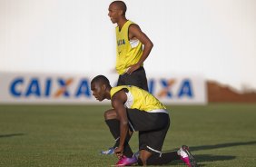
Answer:
[[[147, 165], [162, 165], [174, 160], [180, 160], [180, 155], [178, 155], [177, 152], [164, 152], [161, 154], [161, 156], [159, 153], [154, 153], [147, 160]], [[142, 160], [139, 159], [138, 164], [143, 165]]]

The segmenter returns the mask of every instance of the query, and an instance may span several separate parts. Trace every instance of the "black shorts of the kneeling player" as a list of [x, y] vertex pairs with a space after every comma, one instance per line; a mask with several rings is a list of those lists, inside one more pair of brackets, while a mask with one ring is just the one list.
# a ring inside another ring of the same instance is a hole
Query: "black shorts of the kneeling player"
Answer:
[[168, 113], [148, 113], [127, 109], [130, 129], [139, 131], [139, 149], [162, 152], [162, 144], [170, 126]]

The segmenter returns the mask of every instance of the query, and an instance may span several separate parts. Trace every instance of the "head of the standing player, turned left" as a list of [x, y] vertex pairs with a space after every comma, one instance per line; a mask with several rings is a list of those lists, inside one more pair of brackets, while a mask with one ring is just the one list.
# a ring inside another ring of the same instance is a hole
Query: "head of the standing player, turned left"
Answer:
[[117, 23], [120, 17], [125, 17], [126, 13], [126, 5], [123, 1], [113, 1], [108, 8], [108, 15], [113, 22], [113, 24]]

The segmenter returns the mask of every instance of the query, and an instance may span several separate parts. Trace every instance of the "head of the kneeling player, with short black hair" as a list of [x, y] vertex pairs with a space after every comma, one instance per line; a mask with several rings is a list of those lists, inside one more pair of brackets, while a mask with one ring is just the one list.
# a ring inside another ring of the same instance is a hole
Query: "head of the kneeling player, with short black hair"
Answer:
[[100, 102], [106, 99], [106, 93], [110, 87], [109, 80], [104, 75], [97, 75], [91, 81], [93, 95]]

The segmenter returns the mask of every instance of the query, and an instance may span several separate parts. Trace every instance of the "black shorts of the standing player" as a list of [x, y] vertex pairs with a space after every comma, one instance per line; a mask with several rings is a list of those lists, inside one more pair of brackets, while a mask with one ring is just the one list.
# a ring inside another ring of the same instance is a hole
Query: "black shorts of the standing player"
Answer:
[[133, 85], [140, 87], [145, 91], [149, 91], [146, 73], [143, 66], [134, 71], [132, 74], [119, 75], [117, 86], [120, 85]]

